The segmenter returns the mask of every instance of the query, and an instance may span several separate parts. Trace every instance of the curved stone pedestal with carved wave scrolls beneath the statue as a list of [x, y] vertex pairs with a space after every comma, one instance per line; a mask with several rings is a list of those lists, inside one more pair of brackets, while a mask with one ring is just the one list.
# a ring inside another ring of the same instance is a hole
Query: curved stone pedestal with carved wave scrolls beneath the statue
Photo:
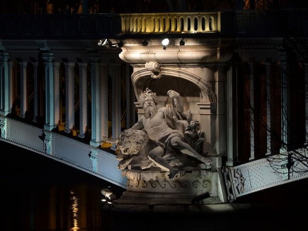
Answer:
[[192, 200], [200, 194], [208, 192], [207, 197], [200, 199], [202, 203], [221, 203], [218, 193], [218, 172], [209, 170], [193, 170], [179, 172], [175, 179], [168, 179], [165, 172], [122, 170], [127, 177], [127, 191], [117, 204], [192, 204]]

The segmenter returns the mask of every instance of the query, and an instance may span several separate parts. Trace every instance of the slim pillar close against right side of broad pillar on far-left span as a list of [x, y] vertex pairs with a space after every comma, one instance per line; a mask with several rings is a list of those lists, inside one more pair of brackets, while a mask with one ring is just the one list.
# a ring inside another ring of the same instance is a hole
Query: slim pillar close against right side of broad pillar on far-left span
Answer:
[[54, 125], [60, 124], [60, 62], [53, 62]]

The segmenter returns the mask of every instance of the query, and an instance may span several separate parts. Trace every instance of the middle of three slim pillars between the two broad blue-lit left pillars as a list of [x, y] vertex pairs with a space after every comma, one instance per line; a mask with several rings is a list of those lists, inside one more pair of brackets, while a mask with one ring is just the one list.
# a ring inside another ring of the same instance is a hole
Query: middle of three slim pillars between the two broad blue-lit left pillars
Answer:
[[73, 132], [74, 129], [74, 66], [75, 63], [69, 62], [65, 66], [65, 132]]

